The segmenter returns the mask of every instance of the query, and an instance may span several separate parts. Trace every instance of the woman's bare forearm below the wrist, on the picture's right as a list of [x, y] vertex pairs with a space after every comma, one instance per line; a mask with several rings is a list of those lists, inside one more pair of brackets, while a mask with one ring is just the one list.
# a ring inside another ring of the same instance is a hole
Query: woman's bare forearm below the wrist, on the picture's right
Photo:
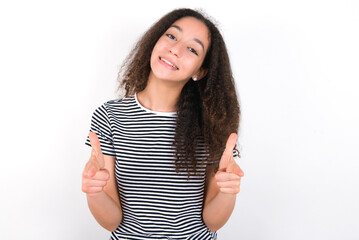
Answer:
[[219, 192], [203, 209], [203, 221], [215, 232], [228, 221], [236, 203], [236, 194]]

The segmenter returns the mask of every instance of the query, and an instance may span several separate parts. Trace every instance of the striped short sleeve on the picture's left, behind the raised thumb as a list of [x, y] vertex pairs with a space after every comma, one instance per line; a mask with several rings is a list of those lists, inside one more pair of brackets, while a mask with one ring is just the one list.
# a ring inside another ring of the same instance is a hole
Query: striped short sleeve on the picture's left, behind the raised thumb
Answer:
[[[96, 133], [103, 154], [116, 156], [110, 119], [105, 104], [97, 108], [92, 114], [90, 132]], [[87, 136], [85, 144], [91, 147], [89, 136]]]

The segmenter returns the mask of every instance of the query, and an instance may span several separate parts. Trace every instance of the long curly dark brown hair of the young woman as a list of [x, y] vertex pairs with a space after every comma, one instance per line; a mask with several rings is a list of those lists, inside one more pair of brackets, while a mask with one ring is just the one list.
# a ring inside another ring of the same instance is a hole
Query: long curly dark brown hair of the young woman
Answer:
[[[210, 34], [210, 46], [202, 64], [208, 72], [201, 80], [185, 84], [176, 106], [173, 142], [176, 170], [190, 175], [205, 161], [214, 163], [217, 170], [227, 138], [232, 132], [237, 133], [239, 127], [240, 107], [234, 79], [226, 45], [217, 27], [204, 14], [192, 9], [176, 9], [166, 14], [137, 42], [123, 63], [118, 80], [126, 96], [144, 90], [151, 71], [152, 49], [167, 29], [183, 17], [202, 21]], [[196, 151], [201, 143], [206, 150], [204, 157]]]

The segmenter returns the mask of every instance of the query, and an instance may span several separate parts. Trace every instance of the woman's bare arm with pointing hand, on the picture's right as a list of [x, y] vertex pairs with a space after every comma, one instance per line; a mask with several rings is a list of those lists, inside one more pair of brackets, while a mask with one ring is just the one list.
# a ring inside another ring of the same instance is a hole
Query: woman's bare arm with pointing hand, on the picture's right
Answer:
[[236, 139], [236, 134], [228, 138], [216, 174], [213, 171], [214, 166], [207, 167], [202, 217], [212, 232], [223, 227], [231, 216], [236, 195], [239, 193], [241, 177], [244, 176], [243, 171], [233, 159]]

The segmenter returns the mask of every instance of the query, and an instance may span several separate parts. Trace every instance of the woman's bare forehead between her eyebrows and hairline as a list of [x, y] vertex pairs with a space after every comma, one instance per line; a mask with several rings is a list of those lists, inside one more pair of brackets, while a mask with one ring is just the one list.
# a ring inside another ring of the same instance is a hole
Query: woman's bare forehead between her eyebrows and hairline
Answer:
[[183, 35], [201, 40], [205, 48], [208, 48], [210, 42], [209, 30], [202, 21], [194, 17], [183, 17], [175, 21], [172, 26], [180, 27]]

